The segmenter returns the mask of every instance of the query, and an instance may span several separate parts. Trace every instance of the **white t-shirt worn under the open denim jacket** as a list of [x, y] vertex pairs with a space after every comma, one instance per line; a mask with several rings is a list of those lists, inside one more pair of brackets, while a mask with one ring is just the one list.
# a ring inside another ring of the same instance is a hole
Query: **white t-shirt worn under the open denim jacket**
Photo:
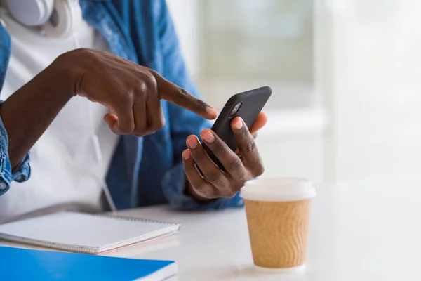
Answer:
[[[108, 50], [105, 39], [86, 22], [74, 37], [53, 39], [41, 34], [38, 27], [16, 22], [5, 8], [0, 7], [0, 13], [12, 46], [2, 100], [62, 53], [76, 47]], [[108, 208], [104, 179], [118, 136], [103, 121], [105, 113], [107, 109], [102, 105], [79, 96], [63, 107], [31, 150], [29, 181], [13, 182], [10, 190], [0, 196], [0, 223], [52, 209], [103, 211]]]

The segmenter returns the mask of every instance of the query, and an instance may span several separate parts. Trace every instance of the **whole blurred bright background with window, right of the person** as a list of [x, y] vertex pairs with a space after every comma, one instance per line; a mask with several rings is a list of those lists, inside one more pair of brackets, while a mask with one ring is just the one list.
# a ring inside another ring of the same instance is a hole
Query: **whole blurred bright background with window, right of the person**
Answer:
[[265, 176], [421, 169], [421, 2], [168, 0], [189, 71], [221, 109], [268, 85]]

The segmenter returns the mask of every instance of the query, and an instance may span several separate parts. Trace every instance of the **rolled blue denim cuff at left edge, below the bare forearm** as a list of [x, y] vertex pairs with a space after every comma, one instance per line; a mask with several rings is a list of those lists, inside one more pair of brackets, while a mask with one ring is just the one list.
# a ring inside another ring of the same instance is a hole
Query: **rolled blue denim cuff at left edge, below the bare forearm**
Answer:
[[[0, 104], [3, 101], [0, 100]], [[29, 166], [29, 152], [12, 171], [12, 165], [8, 157], [8, 136], [0, 118], [0, 195], [3, 195], [10, 187], [12, 181], [27, 181], [31, 176]]]

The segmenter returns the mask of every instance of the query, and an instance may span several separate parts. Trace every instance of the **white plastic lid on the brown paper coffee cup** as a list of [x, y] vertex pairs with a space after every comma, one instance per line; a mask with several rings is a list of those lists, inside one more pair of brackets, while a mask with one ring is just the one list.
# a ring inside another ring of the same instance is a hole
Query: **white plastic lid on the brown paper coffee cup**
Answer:
[[297, 201], [316, 196], [312, 182], [306, 178], [265, 178], [247, 181], [241, 197], [255, 201]]

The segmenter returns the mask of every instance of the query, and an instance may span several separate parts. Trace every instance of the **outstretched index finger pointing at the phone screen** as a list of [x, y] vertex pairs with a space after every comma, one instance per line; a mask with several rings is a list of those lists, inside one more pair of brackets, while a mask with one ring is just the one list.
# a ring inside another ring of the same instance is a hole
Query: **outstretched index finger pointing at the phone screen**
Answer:
[[185, 89], [163, 78], [157, 72], [152, 72], [152, 74], [158, 84], [159, 98], [168, 100], [170, 103], [179, 105], [206, 119], [215, 119], [218, 116], [218, 112], [203, 100], [199, 100], [199, 98], [196, 98]]

